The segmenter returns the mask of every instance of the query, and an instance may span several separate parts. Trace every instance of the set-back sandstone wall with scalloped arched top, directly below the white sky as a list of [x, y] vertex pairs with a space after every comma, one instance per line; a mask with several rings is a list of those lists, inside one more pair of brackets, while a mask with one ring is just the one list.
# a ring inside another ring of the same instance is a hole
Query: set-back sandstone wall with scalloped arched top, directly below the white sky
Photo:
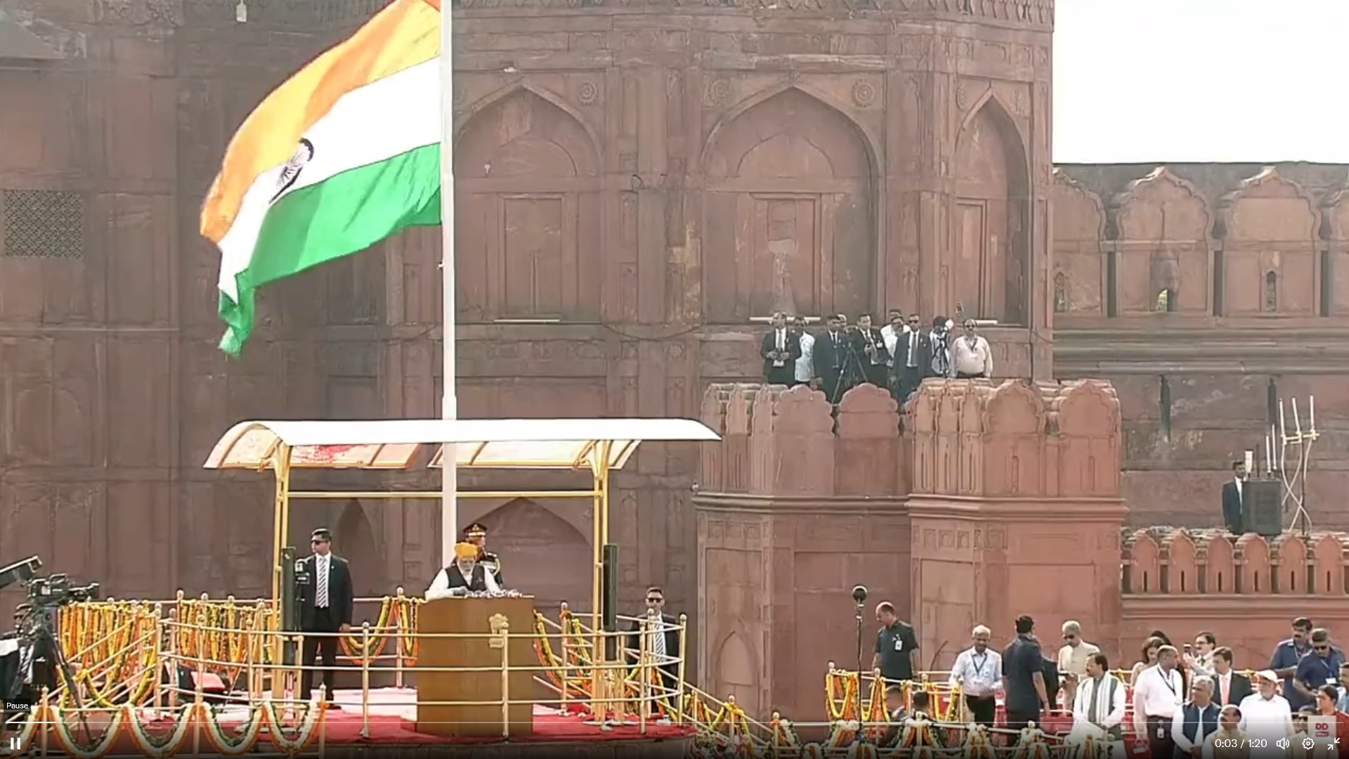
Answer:
[[1344, 166], [1060, 166], [1052, 197], [1055, 375], [1114, 385], [1132, 524], [1217, 525], [1228, 462], [1315, 394], [1307, 508], [1349, 527]]

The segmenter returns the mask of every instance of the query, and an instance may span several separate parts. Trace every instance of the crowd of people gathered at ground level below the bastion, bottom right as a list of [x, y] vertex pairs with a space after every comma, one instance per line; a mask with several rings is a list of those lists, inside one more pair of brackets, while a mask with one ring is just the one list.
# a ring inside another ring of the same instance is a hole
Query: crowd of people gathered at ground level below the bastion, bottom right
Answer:
[[[912, 679], [919, 669], [912, 625], [888, 602], [877, 606], [877, 620], [873, 669], [888, 683]], [[1055, 652], [1023, 616], [1001, 651], [987, 627], [975, 627], [948, 682], [959, 687], [970, 723], [1012, 735], [1033, 724], [1070, 745], [1106, 745], [1112, 759], [1144, 751], [1155, 759], [1338, 756], [1336, 739], [1349, 745], [1349, 662], [1330, 631], [1306, 617], [1291, 627], [1268, 664], [1236, 662], [1211, 632], [1176, 646], [1153, 631], [1130, 670], [1112, 670], [1079, 623], [1060, 625]]]

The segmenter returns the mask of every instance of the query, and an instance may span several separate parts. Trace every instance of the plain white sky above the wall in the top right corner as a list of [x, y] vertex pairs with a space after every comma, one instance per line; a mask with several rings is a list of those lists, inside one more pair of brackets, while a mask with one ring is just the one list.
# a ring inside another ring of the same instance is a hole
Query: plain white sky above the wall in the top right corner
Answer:
[[1054, 161], [1349, 163], [1349, 0], [1058, 0]]

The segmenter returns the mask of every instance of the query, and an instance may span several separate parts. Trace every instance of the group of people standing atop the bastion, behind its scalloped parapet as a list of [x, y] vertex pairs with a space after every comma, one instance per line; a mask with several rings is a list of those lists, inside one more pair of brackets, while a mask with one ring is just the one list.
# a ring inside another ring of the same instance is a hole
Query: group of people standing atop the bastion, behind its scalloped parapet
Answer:
[[809, 385], [831, 404], [861, 384], [888, 388], [904, 402], [928, 377], [992, 378], [993, 351], [966, 319], [963, 335], [952, 338], [946, 316], [924, 325], [917, 313], [890, 309], [888, 323], [876, 327], [863, 313], [855, 324], [839, 313], [824, 317], [824, 331], [811, 334], [804, 316], [773, 315], [773, 327], [761, 342], [764, 380], [769, 385]]

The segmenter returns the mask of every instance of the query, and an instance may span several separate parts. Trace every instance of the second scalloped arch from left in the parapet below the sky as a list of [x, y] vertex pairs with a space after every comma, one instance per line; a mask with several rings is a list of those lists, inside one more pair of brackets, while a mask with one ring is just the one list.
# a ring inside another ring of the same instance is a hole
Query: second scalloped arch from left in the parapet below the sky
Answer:
[[1211, 313], [1214, 215], [1190, 181], [1159, 166], [1110, 204], [1120, 312]]

